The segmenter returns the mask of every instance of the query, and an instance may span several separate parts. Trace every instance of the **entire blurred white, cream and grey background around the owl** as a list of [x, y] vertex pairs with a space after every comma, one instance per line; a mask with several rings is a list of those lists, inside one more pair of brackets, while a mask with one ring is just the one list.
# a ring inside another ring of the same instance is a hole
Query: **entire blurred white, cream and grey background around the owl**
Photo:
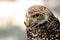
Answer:
[[0, 40], [27, 40], [24, 19], [33, 5], [46, 6], [60, 18], [60, 0], [0, 0]]

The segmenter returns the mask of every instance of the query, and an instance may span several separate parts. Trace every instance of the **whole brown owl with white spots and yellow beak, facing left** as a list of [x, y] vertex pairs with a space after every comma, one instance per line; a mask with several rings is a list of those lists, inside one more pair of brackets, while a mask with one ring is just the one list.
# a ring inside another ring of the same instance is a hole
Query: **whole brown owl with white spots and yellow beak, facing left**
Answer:
[[31, 6], [24, 24], [27, 40], [60, 40], [60, 22], [45, 6]]

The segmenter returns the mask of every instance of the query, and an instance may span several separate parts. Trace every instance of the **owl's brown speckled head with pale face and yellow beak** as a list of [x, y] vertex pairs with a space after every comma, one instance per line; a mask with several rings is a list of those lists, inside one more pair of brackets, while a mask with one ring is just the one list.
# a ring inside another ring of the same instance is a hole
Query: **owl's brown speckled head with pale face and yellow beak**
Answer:
[[26, 14], [26, 25], [33, 23], [42, 24], [48, 20], [50, 16], [54, 16], [53, 13], [46, 7], [35, 5], [28, 9]]

